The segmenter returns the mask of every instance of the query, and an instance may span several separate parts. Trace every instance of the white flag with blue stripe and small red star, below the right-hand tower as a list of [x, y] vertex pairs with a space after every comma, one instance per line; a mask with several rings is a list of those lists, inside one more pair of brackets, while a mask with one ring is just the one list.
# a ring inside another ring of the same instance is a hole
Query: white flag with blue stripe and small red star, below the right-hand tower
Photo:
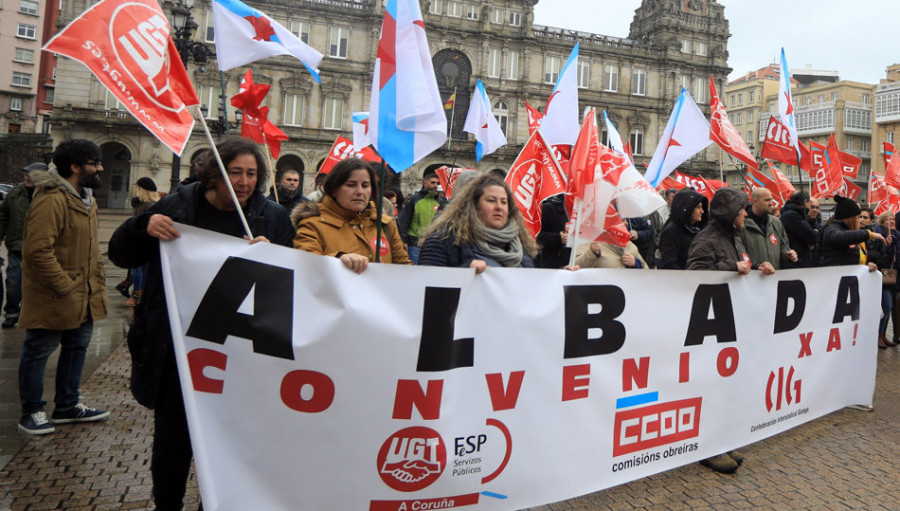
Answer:
[[709, 121], [687, 90], [682, 88], [644, 178], [653, 188], [658, 187], [679, 165], [711, 143]]

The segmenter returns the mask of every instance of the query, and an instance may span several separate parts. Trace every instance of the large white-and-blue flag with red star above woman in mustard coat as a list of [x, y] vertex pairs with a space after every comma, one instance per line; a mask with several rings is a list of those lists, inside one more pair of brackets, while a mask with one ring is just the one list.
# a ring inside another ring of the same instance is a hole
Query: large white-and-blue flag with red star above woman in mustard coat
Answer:
[[402, 172], [447, 141], [417, 0], [387, 0], [369, 100], [369, 142]]

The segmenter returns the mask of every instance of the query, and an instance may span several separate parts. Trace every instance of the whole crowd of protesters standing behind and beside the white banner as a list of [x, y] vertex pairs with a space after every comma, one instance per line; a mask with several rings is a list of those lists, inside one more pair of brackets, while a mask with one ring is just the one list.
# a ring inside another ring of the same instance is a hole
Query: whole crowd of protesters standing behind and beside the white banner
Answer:
[[[437, 175], [427, 172], [422, 188], [404, 201], [398, 190], [380, 189], [369, 163], [350, 158], [317, 176], [315, 191], [304, 197], [293, 170], [282, 172], [275, 188], [267, 187], [266, 160], [256, 144], [227, 138], [217, 150], [227, 181], [208, 150], [195, 155], [191, 176], [168, 195], [157, 192], [151, 179], [139, 179], [134, 215], [109, 243], [109, 259], [131, 275], [130, 282], [120, 284], [124, 291], [117, 289], [129, 298], [126, 305], [134, 306], [128, 332], [131, 390], [154, 410], [150, 468], [159, 510], [181, 509], [192, 458], [159, 255], [160, 242], [180, 236], [176, 222], [248, 243], [334, 257], [355, 273], [376, 262], [464, 267], [475, 273], [543, 267], [771, 275], [784, 268], [900, 266], [895, 217], [884, 213], [876, 220], [870, 209], [842, 197], [835, 197], [833, 216], [822, 222], [818, 202], [805, 192], [795, 193], [778, 210], [764, 188], [749, 197], [723, 188], [711, 200], [690, 188], [666, 190], [666, 207], [624, 220], [630, 235], [625, 247], [589, 240], [572, 246], [561, 195], [543, 203], [542, 230], [533, 237], [512, 190], [493, 173], [467, 171], [448, 200]], [[71, 140], [56, 148], [53, 163], [53, 169], [43, 164], [23, 169], [25, 182], [0, 204], [0, 240], [5, 239], [9, 253], [2, 326], [18, 323], [27, 332], [19, 368], [19, 429], [35, 435], [52, 433], [55, 424], [109, 416], [81, 403], [78, 394], [93, 321], [105, 317], [108, 308], [91, 194], [100, 183], [101, 154], [89, 141]], [[236, 214], [238, 207], [246, 224]], [[569, 266], [572, 251], [575, 264]], [[128, 291], [130, 286], [134, 291]], [[886, 337], [889, 320], [900, 315], [896, 297], [896, 281], [885, 279], [880, 347], [897, 344], [898, 329], [892, 339]], [[43, 375], [47, 358], [59, 346], [55, 409], [48, 418]], [[738, 451], [730, 451], [702, 463], [730, 473], [742, 461]]]

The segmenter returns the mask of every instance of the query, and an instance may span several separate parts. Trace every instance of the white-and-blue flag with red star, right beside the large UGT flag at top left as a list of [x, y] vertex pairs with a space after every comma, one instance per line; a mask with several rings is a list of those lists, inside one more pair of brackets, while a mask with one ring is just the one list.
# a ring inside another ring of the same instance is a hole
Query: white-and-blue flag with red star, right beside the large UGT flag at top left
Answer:
[[318, 68], [322, 54], [280, 23], [240, 0], [213, 0], [212, 8], [220, 70], [228, 71], [275, 55], [293, 55], [320, 81]]

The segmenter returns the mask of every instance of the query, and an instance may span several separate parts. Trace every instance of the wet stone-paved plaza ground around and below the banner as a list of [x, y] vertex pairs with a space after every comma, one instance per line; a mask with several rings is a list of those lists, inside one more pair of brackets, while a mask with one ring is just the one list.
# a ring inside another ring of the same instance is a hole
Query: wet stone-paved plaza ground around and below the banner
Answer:
[[[124, 218], [105, 215], [103, 239]], [[108, 266], [111, 290], [123, 276], [123, 270]], [[152, 414], [128, 391], [123, 333], [130, 310], [123, 301], [112, 290], [111, 315], [98, 322], [82, 385], [86, 403], [110, 410], [108, 422], [61, 425], [43, 437], [18, 433], [16, 372], [24, 332], [0, 332], [0, 510], [153, 508]], [[50, 389], [53, 363], [48, 368]], [[872, 413], [839, 410], [747, 446], [742, 449], [747, 460], [733, 475], [693, 463], [534, 510], [900, 509], [897, 436], [900, 348], [889, 348], [878, 350]], [[534, 477], [535, 484], [553, 484], [552, 467], [536, 471]], [[196, 509], [197, 502], [192, 479], [186, 509]]]

